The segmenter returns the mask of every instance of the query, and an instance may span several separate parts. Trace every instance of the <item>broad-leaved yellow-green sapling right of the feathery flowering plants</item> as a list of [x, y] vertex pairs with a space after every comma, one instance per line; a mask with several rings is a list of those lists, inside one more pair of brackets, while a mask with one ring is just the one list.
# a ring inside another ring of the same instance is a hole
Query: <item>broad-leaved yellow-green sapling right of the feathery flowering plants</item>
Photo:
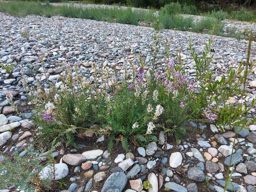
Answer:
[[[255, 106], [253, 100], [251, 106], [243, 105], [242, 103], [234, 105], [229, 99], [237, 95], [246, 95], [244, 89], [241, 88], [245, 84], [247, 77], [245, 74], [250, 74], [251, 69], [245, 69], [243, 73], [243, 63], [237, 69], [227, 71], [227, 76], [214, 77], [209, 65], [212, 61], [213, 54], [211, 50], [211, 39], [206, 44], [206, 50], [202, 56], [196, 54], [192, 47], [190, 39], [190, 52], [196, 63], [196, 82], [198, 84], [199, 93], [197, 94], [196, 105], [194, 111], [202, 114], [209, 121], [214, 121], [219, 128], [224, 131], [224, 127], [239, 126], [246, 128], [250, 124], [256, 122], [256, 117], [247, 119], [247, 114]], [[213, 104], [214, 103], [214, 104]], [[202, 110], [204, 113], [202, 113]]]

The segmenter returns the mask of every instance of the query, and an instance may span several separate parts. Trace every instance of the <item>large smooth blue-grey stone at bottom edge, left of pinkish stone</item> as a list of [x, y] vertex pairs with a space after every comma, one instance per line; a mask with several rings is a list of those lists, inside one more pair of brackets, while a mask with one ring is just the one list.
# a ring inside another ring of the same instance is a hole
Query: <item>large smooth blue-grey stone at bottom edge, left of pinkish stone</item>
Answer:
[[123, 172], [112, 173], [105, 181], [101, 192], [122, 192], [127, 183], [127, 177]]

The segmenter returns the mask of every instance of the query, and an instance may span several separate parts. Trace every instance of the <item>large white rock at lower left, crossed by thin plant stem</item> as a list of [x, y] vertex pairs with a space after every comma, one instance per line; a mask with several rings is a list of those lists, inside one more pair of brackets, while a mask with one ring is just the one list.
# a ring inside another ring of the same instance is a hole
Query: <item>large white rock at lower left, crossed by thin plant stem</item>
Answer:
[[51, 180], [60, 180], [65, 178], [68, 175], [68, 165], [65, 163], [54, 164], [54, 176], [53, 176], [53, 166], [47, 165], [44, 169], [39, 172], [39, 178], [41, 180], [51, 179]]

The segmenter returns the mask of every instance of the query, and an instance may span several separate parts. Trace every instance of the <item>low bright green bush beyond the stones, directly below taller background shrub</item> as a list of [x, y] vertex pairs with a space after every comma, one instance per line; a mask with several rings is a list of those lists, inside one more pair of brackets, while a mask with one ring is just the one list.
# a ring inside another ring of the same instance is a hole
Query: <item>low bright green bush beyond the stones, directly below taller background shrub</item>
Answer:
[[193, 18], [183, 17], [182, 15], [169, 15], [159, 13], [159, 25], [165, 29], [188, 30], [194, 26]]

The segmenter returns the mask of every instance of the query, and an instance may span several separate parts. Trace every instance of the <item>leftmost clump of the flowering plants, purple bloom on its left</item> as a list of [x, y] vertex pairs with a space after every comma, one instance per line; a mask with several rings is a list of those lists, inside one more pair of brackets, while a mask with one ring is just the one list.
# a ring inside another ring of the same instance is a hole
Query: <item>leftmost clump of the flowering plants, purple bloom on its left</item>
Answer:
[[[58, 90], [50, 85], [49, 90], [39, 86], [38, 92], [31, 98], [37, 111], [35, 122], [41, 127], [42, 138], [58, 140], [66, 145], [75, 145], [74, 133], [79, 129], [90, 130], [93, 124], [105, 121], [106, 101], [103, 94], [93, 94], [95, 87], [85, 84], [74, 67], [77, 81], [73, 79], [71, 66], [66, 67], [61, 77], [62, 86]], [[79, 83], [79, 90], [76, 90]]]

